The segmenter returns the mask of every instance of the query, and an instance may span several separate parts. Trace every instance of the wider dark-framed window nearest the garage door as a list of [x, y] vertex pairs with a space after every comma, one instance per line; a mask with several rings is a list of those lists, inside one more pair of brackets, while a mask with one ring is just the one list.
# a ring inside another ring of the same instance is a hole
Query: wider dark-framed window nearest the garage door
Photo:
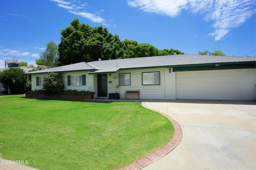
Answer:
[[142, 72], [142, 85], [160, 85], [160, 72]]

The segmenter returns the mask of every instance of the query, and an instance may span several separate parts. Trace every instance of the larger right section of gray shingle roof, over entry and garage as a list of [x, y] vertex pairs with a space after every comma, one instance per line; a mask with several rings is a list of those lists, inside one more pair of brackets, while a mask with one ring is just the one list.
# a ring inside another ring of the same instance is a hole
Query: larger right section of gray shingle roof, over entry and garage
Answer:
[[95, 72], [116, 72], [125, 68], [142, 68], [156, 66], [180, 66], [209, 63], [236, 63], [256, 61], [256, 57], [227, 57], [209, 55], [167, 55], [154, 57], [140, 57], [131, 59], [117, 59], [105, 61], [92, 61], [90, 64], [100, 68]]

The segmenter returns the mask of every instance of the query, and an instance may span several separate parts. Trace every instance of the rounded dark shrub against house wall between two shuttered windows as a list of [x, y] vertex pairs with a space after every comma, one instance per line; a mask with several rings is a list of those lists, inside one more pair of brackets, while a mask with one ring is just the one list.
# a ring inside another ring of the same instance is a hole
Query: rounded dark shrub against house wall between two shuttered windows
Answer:
[[63, 79], [60, 73], [46, 73], [44, 76], [43, 90], [45, 90], [45, 94], [60, 94], [64, 90]]

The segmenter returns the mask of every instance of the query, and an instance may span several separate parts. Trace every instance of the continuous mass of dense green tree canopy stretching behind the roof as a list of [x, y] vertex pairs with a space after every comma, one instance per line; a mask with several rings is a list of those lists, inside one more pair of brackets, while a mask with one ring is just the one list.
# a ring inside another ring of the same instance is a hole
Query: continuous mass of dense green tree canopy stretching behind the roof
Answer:
[[[158, 50], [148, 43], [125, 39], [120, 41], [118, 35], [108, 33], [106, 28], [91, 27], [74, 19], [70, 26], [61, 30], [61, 42], [58, 45], [60, 55], [58, 66], [79, 62], [108, 59], [149, 57], [157, 55], [184, 54], [179, 50]], [[44, 63], [41, 63], [44, 65]]]

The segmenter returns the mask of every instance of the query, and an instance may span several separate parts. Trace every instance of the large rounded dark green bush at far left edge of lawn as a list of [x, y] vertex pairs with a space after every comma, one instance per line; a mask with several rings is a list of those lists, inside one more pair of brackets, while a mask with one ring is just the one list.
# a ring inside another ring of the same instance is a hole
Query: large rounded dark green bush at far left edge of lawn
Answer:
[[19, 67], [9, 68], [0, 72], [0, 82], [10, 88], [12, 94], [23, 94], [31, 86], [24, 70]]

